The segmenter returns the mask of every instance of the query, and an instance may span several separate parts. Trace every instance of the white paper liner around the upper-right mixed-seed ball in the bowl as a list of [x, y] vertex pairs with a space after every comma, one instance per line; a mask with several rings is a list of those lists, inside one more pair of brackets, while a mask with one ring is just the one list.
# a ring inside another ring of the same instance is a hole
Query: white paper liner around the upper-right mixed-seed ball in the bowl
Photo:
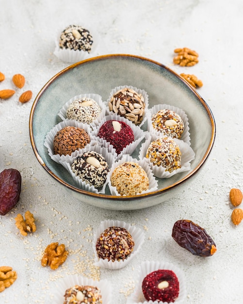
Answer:
[[172, 106], [169, 104], [156, 104], [151, 109], [149, 109], [149, 111], [147, 113], [147, 131], [150, 133], [154, 133], [155, 135], [158, 135], [158, 136], [163, 135], [160, 131], [156, 131], [154, 129], [154, 127], [152, 125], [152, 121], [151, 121], [152, 116], [163, 109], [172, 110], [181, 117], [181, 119], [183, 120], [183, 123], [184, 123], [184, 131], [180, 137], [180, 140], [183, 140], [185, 143], [187, 143], [190, 146], [191, 138], [190, 138], [190, 133], [189, 133], [188, 117], [182, 109], [179, 109], [175, 106]]

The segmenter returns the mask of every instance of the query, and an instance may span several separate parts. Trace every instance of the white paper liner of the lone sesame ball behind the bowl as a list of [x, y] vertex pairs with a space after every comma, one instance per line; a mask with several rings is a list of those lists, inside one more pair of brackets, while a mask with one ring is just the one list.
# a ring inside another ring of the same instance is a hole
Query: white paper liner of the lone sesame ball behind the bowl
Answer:
[[[77, 23], [76, 23], [77, 24]], [[79, 51], [79, 50], [70, 50], [70, 49], [61, 49], [59, 47], [59, 39], [61, 36], [61, 33], [63, 32], [63, 30], [67, 27], [64, 26], [63, 28], [59, 28], [59, 30], [57, 31], [57, 35], [55, 37], [55, 50], [53, 51], [54, 55], [67, 63], [76, 63], [79, 62], [81, 60], [85, 60], [91, 57], [94, 57], [97, 51], [97, 46], [98, 46], [98, 35], [97, 32], [91, 28], [91, 26], [85, 26], [82, 24], [81, 25], [83, 28], [85, 28], [86, 30], [88, 30], [90, 32], [90, 34], [93, 37], [93, 44], [91, 46], [91, 51], [88, 53], [87, 51]]]

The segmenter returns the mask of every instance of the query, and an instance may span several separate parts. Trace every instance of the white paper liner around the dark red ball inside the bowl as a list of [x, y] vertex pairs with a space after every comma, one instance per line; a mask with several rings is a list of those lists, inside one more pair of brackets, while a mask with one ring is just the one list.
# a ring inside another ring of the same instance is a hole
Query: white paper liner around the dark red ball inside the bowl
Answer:
[[127, 118], [124, 118], [122, 116], [119, 116], [119, 115], [105, 116], [104, 118], [101, 119], [101, 122], [97, 126], [95, 126], [94, 124], [91, 124], [91, 127], [94, 129], [94, 131], [92, 132], [92, 136], [95, 137], [96, 140], [102, 144], [102, 146], [105, 146], [109, 150], [114, 149], [113, 145], [111, 145], [105, 139], [97, 136], [99, 128], [102, 126], [103, 123], [105, 123], [108, 120], [123, 121], [127, 125], [130, 126], [130, 128], [132, 129], [133, 134], [134, 134], [134, 141], [131, 142], [129, 145], [127, 145], [127, 147], [125, 147], [119, 154], [117, 154], [117, 159], [120, 159], [123, 154], [131, 154], [136, 149], [136, 147], [139, 145], [139, 143], [142, 141], [142, 139], [144, 138], [144, 131], [142, 129], [140, 129], [140, 127], [135, 126], [130, 120], [128, 120]]

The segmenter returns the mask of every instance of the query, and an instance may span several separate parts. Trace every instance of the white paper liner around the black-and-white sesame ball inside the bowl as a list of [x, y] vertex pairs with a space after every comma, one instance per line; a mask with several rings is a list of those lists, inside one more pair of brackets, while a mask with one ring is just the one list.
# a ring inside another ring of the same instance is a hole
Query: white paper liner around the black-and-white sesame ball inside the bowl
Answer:
[[115, 150], [113, 149], [112, 152], [108, 152], [106, 148], [101, 147], [100, 145], [97, 144], [97, 142], [92, 142], [87, 149], [86, 148], [82, 149], [81, 153], [76, 153], [73, 157], [66, 157], [64, 161], [60, 161], [60, 164], [63, 165], [64, 168], [69, 172], [69, 174], [72, 176], [73, 180], [75, 181], [76, 185], [79, 188], [93, 193], [105, 193], [105, 188], [108, 183], [109, 173], [107, 174], [107, 179], [104, 185], [101, 188], [95, 188], [93, 185], [90, 186], [89, 184], [86, 184], [84, 181], [82, 181], [81, 178], [79, 176], [76, 176], [71, 169], [71, 165], [77, 156], [79, 156], [84, 152], [90, 152], [90, 151], [95, 151], [103, 155], [108, 164], [109, 169], [111, 169], [112, 164], [113, 162], [115, 162], [117, 156]]

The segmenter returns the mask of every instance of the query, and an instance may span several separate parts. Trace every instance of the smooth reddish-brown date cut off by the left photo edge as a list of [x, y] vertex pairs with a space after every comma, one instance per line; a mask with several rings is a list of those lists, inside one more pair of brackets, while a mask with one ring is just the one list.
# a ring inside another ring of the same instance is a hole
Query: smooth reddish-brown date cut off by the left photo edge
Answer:
[[5, 215], [16, 205], [20, 191], [20, 172], [16, 169], [4, 169], [0, 173], [0, 215]]

